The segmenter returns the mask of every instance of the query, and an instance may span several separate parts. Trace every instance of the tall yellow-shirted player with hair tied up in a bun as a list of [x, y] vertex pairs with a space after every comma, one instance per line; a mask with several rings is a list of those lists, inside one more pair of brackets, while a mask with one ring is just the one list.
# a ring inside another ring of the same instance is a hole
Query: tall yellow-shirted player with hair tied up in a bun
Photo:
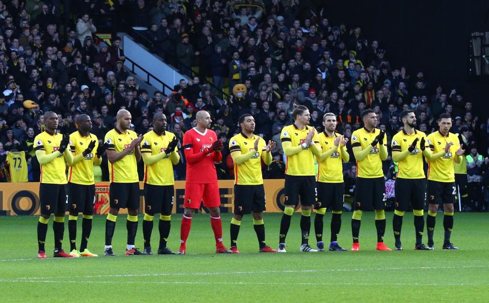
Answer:
[[304, 105], [294, 105], [292, 118], [294, 124], [282, 128], [280, 141], [287, 156], [285, 172], [285, 209], [280, 222], [278, 252], [286, 252], [285, 238], [289, 231], [290, 220], [295, 207], [300, 204], [300, 230], [302, 235], [301, 252], [317, 252], [308, 243], [311, 230], [311, 208], [315, 203], [316, 167], [314, 156], [321, 155], [316, 129], [307, 126], [311, 119]]

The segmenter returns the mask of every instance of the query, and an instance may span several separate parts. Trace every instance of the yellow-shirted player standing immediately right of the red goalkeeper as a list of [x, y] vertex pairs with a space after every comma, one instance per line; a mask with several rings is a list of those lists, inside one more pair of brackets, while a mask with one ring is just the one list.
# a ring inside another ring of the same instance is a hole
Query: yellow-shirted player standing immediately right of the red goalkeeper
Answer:
[[265, 189], [262, 178], [262, 159], [266, 165], [272, 162], [271, 150], [276, 145], [273, 141], [265, 140], [253, 134], [255, 122], [250, 114], [239, 118], [241, 132], [229, 140], [229, 151], [234, 162], [235, 170], [235, 215], [231, 219], [230, 251], [239, 254], [237, 241], [241, 220], [245, 214], [253, 214], [253, 228], [258, 237], [261, 253], [276, 253], [265, 242], [265, 225], [263, 211], [265, 207]]

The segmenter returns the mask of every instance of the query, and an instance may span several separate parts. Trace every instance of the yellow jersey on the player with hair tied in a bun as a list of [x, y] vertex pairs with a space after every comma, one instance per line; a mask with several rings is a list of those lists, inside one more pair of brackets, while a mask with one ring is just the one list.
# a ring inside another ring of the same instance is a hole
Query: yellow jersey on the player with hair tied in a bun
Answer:
[[[314, 130], [313, 141], [319, 143], [318, 132], [314, 127], [305, 126], [299, 129], [295, 124], [282, 128], [280, 141], [289, 141], [292, 146], [299, 146], [305, 143], [305, 138], [309, 131]], [[298, 154], [287, 156], [285, 173], [290, 176], [316, 176], [315, 159], [311, 147], [301, 150]]]

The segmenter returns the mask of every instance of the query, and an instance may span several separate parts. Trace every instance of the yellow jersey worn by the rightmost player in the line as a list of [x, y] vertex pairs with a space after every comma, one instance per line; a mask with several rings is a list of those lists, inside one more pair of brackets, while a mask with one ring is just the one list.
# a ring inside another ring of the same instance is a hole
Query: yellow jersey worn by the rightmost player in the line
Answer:
[[450, 151], [445, 153], [440, 159], [428, 163], [428, 180], [455, 182], [454, 160], [457, 156], [457, 150], [460, 148], [458, 137], [451, 132], [445, 136], [440, 131], [435, 131], [428, 135], [428, 144], [433, 154], [441, 152], [447, 142], [453, 143]]

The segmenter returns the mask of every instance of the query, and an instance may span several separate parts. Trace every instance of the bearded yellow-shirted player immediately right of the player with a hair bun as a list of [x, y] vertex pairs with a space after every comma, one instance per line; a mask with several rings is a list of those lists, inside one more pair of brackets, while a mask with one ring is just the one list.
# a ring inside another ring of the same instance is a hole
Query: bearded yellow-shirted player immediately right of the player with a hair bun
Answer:
[[343, 211], [343, 162], [350, 160], [346, 150], [348, 138], [338, 135], [336, 130], [336, 116], [326, 113], [323, 116], [324, 131], [319, 134], [319, 145], [322, 153], [316, 157], [319, 164], [318, 179], [316, 180], [316, 216], [314, 217], [314, 230], [319, 252], [324, 252], [323, 217], [326, 209], [331, 209], [331, 238], [330, 251], [346, 251], [338, 245], [338, 234], [341, 229], [341, 213]]

